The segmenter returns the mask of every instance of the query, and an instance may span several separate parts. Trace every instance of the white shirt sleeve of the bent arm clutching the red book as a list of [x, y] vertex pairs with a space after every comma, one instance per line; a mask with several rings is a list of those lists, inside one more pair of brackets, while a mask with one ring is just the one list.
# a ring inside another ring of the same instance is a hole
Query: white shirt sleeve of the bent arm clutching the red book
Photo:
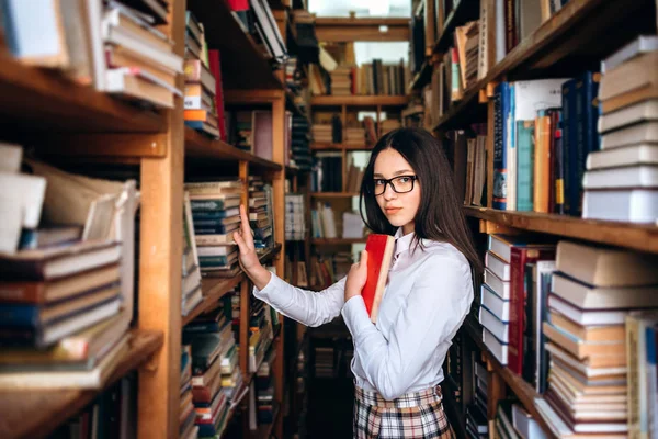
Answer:
[[386, 399], [405, 394], [429, 362], [443, 361], [473, 301], [467, 264], [432, 255], [419, 271], [388, 340], [371, 323], [361, 296], [350, 299], [342, 311], [364, 378]]

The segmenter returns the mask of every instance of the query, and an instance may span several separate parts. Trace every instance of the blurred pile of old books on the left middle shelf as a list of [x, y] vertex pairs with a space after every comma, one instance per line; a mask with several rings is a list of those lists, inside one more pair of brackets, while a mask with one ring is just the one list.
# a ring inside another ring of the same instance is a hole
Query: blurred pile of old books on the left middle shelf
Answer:
[[99, 389], [131, 345], [136, 182], [0, 156], [0, 387]]

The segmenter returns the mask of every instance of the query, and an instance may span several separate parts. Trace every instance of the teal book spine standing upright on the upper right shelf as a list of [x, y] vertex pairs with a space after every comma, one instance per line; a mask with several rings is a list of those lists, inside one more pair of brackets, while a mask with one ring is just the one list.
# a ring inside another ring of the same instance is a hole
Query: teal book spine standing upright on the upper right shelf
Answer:
[[517, 210], [532, 212], [534, 188], [534, 121], [517, 122]]

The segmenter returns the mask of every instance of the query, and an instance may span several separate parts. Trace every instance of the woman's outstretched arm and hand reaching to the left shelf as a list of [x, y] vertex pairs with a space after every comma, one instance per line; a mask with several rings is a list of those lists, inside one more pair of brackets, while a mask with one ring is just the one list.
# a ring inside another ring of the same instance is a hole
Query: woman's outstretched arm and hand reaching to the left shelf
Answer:
[[258, 299], [306, 326], [320, 326], [340, 314], [344, 304], [344, 280], [316, 293], [284, 282], [260, 263], [243, 205], [240, 205], [240, 230], [234, 233], [234, 239], [239, 247], [240, 264], [253, 282], [253, 294]]

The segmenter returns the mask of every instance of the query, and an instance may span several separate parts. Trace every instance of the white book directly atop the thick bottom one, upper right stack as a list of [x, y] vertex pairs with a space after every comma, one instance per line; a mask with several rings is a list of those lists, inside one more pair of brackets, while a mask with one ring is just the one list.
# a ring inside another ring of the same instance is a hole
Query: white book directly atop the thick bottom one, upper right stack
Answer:
[[658, 188], [658, 166], [629, 166], [585, 172], [585, 189]]

